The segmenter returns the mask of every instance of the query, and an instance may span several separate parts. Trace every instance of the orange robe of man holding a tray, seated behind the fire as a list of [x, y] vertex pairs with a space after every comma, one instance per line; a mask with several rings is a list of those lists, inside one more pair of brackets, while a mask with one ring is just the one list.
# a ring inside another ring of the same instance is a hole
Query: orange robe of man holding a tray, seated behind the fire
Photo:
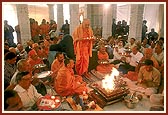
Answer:
[[[98, 60], [108, 60], [109, 55], [107, 52], [104, 54], [98, 51]], [[111, 73], [112, 68], [114, 67], [113, 64], [99, 64], [96, 67], [96, 70], [101, 72], [101, 73]]]

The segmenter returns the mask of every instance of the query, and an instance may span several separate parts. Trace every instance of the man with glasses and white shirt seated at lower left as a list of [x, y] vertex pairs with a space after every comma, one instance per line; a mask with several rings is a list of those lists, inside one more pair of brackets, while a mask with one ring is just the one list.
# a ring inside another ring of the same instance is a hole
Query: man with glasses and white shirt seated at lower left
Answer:
[[31, 84], [32, 75], [29, 72], [19, 72], [16, 75], [17, 85], [14, 90], [18, 93], [23, 103], [23, 110], [36, 110], [36, 102], [42, 97]]

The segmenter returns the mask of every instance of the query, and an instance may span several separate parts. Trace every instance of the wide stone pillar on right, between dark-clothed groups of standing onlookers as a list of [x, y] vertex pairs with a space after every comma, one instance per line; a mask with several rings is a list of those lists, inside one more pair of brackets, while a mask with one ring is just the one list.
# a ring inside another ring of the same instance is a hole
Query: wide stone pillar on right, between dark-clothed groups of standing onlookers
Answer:
[[133, 37], [136, 39], [136, 41], [141, 41], [143, 12], [144, 4], [131, 4], [128, 40]]

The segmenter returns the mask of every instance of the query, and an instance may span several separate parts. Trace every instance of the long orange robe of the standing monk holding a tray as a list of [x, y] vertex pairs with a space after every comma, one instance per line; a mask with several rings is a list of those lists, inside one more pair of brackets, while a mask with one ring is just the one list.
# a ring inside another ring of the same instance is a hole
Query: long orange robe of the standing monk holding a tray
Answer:
[[[86, 39], [93, 37], [91, 28], [84, 30], [82, 25], [77, 27], [73, 32], [74, 53], [76, 55], [76, 72], [82, 75], [88, 71], [89, 56], [92, 57], [92, 40]], [[83, 40], [79, 40], [83, 39]]]

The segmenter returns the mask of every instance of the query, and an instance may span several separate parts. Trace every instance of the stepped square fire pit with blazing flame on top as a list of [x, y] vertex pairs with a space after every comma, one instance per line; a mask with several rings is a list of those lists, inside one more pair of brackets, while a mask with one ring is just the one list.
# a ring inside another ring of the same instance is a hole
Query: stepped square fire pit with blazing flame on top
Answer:
[[106, 75], [101, 81], [90, 84], [94, 90], [90, 91], [89, 97], [99, 104], [100, 107], [123, 100], [123, 97], [129, 93], [126, 88], [126, 82], [117, 78], [119, 72], [113, 68], [110, 75]]

